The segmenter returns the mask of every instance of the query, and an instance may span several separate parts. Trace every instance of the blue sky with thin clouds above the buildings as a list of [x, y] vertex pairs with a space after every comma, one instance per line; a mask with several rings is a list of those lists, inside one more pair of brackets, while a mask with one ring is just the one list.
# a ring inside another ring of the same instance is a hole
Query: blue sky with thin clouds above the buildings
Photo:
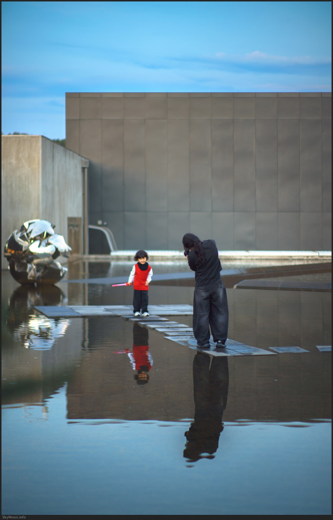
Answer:
[[331, 2], [2, 2], [2, 132], [66, 92], [331, 92]]

